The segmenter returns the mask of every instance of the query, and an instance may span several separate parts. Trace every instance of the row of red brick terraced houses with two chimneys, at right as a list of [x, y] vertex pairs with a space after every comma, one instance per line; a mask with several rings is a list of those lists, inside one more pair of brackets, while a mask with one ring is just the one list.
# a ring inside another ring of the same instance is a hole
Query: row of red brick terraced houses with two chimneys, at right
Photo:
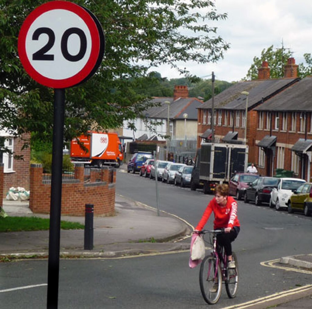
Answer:
[[[289, 58], [285, 77], [269, 79], [270, 68], [264, 61], [258, 80], [233, 84], [215, 96], [214, 135], [217, 142], [244, 143], [246, 132], [248, 161], [254, 162], [262, 175], [275, 175], [280, 168], [310, 181], [312, 78], [300, 80], [297, 68], [295, 59]], [[211, 115], [212, 99], [198, 108], [198, 147], [211, 138]]]

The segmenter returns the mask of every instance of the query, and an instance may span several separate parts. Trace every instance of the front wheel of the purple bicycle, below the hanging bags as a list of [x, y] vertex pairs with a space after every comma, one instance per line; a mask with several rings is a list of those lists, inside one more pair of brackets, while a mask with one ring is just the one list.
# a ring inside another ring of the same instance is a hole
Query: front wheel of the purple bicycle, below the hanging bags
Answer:
[[204, 300], [210, 304], [216, 304], [222, 290], [222, 274], [217, 259], [207, 255], [200, 265], [199, 284]]

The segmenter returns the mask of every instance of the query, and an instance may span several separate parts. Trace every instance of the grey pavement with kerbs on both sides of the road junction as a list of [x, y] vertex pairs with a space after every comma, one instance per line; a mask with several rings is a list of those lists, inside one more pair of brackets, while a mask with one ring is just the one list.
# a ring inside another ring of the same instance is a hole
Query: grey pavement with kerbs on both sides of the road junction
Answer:
[[[49, 218], [46, 214], [33, 214], [28, 201], [4, 199], [3, 209], [9, 216]], [[163, 211], [158, 215], [156, 209], [119, 195], [116, 195], [115, 211], [115, 216], [94, 217], [92, 250], [84, 250], [83, 229], [61, 230], [60, 256], [117, 258], [189, 250], [189, 236], [193, 227], [183, 219]], [[61, 216], [61, 220], [85, 223], [84, 217], [77, 216]], [[0, 235], [0, 261], [48, 256], [49, 231], [5, 232]], [[312, 254], [282, 257], [280, 263], [312, 271]], [[290, 297], [280, 297], [265, 304], [254, 303], [247, 307], [266, 308], [268, 304], [280, 309], [312, 308], [312, 286]]]

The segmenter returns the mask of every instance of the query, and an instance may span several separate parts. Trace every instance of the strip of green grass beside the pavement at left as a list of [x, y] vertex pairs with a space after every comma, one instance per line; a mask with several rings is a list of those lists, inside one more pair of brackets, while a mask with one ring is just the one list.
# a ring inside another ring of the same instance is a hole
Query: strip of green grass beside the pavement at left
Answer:
[[[50, 227], [50, 219], [38, 217], [0, 218], [0, 232], [39, 231]], [[84, 229], [78, 222], [61, 221], [61, 229]]]

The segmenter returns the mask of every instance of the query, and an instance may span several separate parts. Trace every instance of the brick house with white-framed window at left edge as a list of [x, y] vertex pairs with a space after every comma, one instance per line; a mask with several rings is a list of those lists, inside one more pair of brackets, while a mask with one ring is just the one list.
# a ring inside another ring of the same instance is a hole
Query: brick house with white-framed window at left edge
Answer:
[[3, 163], [2, 197], [5, 198], [10, 187], [23, 187], [29, 190], [30, 147], [22, 149], [24, 140], [30, 138], [30, 133], [23, 134], [22, 138], [15, 138], [6, 131], [0, 131], [5, 138], [4, 145], [14, 152], [14, 155], [23, 156], [23, 160], [16, 160], [12, 155], [0, 153], [0, 162]]

